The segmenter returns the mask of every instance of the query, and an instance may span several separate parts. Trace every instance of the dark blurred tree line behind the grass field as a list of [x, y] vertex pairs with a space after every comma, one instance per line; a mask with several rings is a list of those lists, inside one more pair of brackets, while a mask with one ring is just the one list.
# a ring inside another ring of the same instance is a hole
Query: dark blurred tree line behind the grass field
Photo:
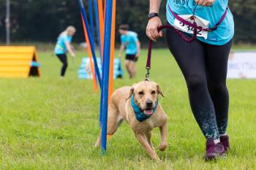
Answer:
[[[88, 1], [84, 2], [87, 8]], [[166, 20], [165, 3], [166, 0], [163, 0], [160, 9], [163, 23]], [[128, 23], [130, 28], [139, 34], [141, 42], [144, 44], [148, 42], [145, 34], [148, 4], [148, 0], [117, 0], [116, 30], [121, 23]], [[0, 0], [1, 43], [5, 42], [5, 6], [6, 1]], [[229, 1], [229, 7], [235, 20], [234, 42], [256, 43], [255, 0], [232, 0]], [[11, 42], [55, 42], [59, 33], [69, 25], [77, 28], [74, 41], [84, 41], [80, 9], [76, 0], [10, 0], [10, 11]], [[95, 37], [95, 39], [97, 38]], [[120, 42], [117, 31], [116, 42]]]

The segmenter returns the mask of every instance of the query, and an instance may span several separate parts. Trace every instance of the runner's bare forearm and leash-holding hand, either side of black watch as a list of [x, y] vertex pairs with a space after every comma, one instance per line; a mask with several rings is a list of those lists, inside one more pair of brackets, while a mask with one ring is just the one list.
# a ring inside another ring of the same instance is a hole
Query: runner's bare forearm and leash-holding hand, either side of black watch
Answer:
[[[150, 0], [149, 1], [149, 13], [159, 13], [159, 7], [161, 0]], [[148, 20], [148, 26], [146, 28], [146, 35], [149, 39], [154, 42], [157, 41], [159, 37], [164, 36], [162, 31], [158, 32], [157, 27], [162, 26], [162, 22], [159, 17], [150, 18]]]

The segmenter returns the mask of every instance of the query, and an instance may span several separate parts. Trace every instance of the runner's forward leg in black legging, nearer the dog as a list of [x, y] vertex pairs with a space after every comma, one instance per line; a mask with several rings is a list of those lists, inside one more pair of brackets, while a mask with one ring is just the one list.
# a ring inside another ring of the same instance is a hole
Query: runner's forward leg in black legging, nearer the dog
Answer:
[[187, 82], [192, 112], [206, 139], [219, 139], [214, 105], [208, 93], [205, 53], [202, 42], [184, 42], [173, 30], [166, 30], [167, 45]]

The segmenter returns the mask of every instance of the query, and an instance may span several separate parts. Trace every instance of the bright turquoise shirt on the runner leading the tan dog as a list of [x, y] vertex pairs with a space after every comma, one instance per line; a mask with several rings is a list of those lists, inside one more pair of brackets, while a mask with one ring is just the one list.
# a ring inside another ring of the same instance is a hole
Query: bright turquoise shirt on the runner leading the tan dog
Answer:
[[[175, 18], [169, 10], [173, 10], [177, 15], [192, 15], [195, 9], [195, 16], [203, 18], [208, 21], [208, 28], [212, 28], [222, 18], [226, 8], [228, 0], [216, 0], [211, 7], [197, 6], [194, 0], [167, 0], [166, 4], [166, 17], [167, 22], [174, 26]], [[206, 38], [198, 37], [202, 42], [206, 42], [210, 45], [225, 45], [234, 35], [234, 21], [233, 15], [230, 9], [227, 9], [227, 15], [222, 23], [218, 26], [217, 30], [208, 32]]]

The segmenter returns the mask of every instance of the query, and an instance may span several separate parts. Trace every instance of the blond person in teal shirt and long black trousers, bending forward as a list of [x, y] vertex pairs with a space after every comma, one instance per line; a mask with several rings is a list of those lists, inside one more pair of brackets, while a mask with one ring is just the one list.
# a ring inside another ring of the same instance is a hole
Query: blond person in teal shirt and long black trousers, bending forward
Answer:
[[61, 67], [61, 77], [64, 77], [68, 63], [67, 63], [67, 52], [70, 53], [72, 58], [75, 58], [74, 47], [70, 45], [72, 41], [72, 36], [75, 35], [75, 27], [68, 26], [65, 31], [59, 34], [58, 40], [56, 42], [56, 46], [54, 48], [54, 53], [59, 58], [61, 63], [63, 63]]

